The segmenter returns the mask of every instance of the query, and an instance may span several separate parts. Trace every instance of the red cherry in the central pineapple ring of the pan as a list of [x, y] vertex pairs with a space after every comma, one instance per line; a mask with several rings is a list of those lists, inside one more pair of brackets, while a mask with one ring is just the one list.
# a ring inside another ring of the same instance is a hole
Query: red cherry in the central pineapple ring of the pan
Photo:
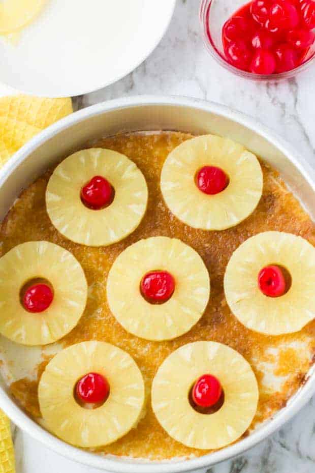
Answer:
[[167, 271], [150, 271], [142, 278], [140, 289], [148, 302], [163, 303], [171, 298], [175, 280]]

